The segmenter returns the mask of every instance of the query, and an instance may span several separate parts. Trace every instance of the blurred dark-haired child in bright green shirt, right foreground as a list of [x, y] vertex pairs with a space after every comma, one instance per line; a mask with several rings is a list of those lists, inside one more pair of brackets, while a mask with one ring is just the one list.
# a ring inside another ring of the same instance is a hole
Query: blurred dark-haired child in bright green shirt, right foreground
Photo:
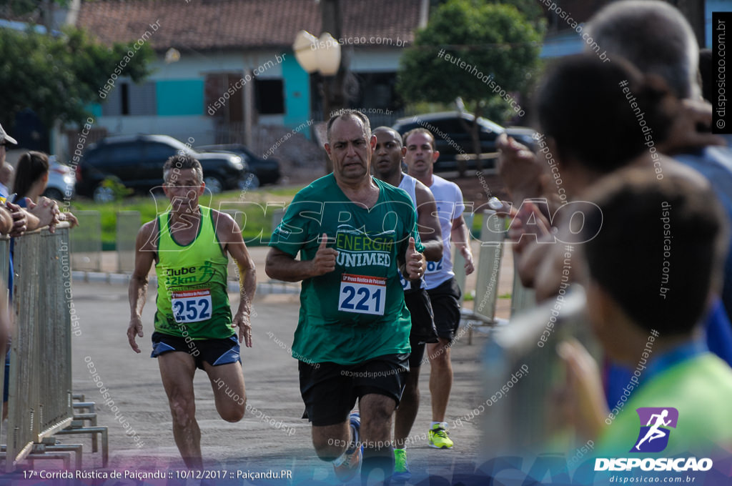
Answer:
[[561, 343], [578, 430], [595, 441], [597, 457], [729, 449], [732, 370], [709, 352], [698, 325], [727, 252], [716, 196], [685, 176], [657, 179], [638, 168], [589, 193], [600, 210], [584, 215], [585, 243], [577, 245], [589, 319], [605, 354], [635, 370], [625, 396], [637, 390], [610, 411], [597, 363], [580, 343]]

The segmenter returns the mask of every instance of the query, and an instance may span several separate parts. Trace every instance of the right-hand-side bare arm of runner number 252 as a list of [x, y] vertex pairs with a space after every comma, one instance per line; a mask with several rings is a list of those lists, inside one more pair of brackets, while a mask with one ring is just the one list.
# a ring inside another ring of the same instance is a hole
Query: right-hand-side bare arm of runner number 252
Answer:
[[239, 269], [239, 309], [234, 315], [234, 327], [239, 327], [239, 343], [244, 341], [247, 348], [252, 347], [251, 313], [254, 293], [257, 290], [257, 270], [249, 255], [247, 245], [242, 239], [242, 230], [234, 218], [228, 214], [214, 212], [216, 233], [225, 250], [234, 258]]

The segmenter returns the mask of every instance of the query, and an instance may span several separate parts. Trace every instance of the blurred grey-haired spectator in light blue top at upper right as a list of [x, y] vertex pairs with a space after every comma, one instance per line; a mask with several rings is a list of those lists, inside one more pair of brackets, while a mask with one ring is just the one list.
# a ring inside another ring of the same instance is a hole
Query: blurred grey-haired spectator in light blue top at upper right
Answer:
[[[658, 139], [660, 150], [705, 176], [732, 220], [732, 150], [711, 133], [712, 107], [698, 84], [699, 46], [684, 15], [660, 0], [617, 1], [597, 12], [589, 31], [608, 55], [659, 75], [684, 100], [671, 133]], [[732, 258], [725, 261], [722, 302], [732, 319]]]

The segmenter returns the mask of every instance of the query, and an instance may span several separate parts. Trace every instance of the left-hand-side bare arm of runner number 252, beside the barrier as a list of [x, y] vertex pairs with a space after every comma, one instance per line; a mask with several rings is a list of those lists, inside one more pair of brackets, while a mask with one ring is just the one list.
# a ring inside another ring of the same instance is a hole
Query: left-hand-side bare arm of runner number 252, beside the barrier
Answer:
[[135, 241], [135, 270], [130, 277], [127, 296], [130, 299], [130, 326], [127, 327], [127, 340], [135, 353], [140, 352], [135, 337], [143, 337], [142, 309], [147, 295], [147, 274], [150, 272], [157, 250], [154, 242], [155, 221], [145, 223]]

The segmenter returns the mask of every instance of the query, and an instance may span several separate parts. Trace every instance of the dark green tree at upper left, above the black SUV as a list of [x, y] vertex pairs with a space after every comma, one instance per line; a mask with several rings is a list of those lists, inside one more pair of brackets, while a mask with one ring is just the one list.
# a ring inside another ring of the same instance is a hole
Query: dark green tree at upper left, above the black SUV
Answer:
[[80, 29], [64, 29], [56, 37], [0, 29], [0, 124], [12, 129], [16, 113], [27, 108], [48, 128], [55, 122], [81, 124], [113, 72], [138, 83], [149, 75], [152, 59], [147, 44], [138, 50], [132, 42], [110, 47]]

